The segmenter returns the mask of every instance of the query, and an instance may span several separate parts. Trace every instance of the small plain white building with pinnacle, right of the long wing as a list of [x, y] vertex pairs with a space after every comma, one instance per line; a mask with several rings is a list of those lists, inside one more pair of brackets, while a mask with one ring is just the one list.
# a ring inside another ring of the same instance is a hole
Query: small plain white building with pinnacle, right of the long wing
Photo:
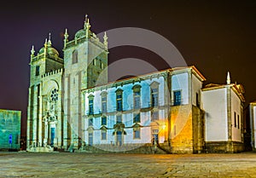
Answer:
[[241, 84], [208, 84], [202, 89], [202, 106], [206, 112], [206, 149], [208, 152], [243, 150], [244, 89]]

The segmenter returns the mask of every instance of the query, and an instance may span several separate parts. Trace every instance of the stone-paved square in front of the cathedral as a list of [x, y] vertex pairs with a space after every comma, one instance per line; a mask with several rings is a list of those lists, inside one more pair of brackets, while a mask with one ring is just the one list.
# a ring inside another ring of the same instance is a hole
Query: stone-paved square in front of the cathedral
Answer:
[[256, 152], [183, 155], [0, 152], [0, 177], [256, 177]]

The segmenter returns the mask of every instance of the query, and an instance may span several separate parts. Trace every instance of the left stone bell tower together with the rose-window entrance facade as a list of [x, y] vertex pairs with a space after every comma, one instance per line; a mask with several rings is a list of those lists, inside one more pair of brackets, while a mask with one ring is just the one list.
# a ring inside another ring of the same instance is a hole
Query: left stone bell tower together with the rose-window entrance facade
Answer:
[[52, 47], [50, 34], [49, 40], [45, 40], [44, 47], [39, 50], [38, 55], [35, 55], [32, 46], [27, 106], [27, 150], [33, 148], [37, 151], [35, 148], [62, 144], [62, 68], [63, 60]]

